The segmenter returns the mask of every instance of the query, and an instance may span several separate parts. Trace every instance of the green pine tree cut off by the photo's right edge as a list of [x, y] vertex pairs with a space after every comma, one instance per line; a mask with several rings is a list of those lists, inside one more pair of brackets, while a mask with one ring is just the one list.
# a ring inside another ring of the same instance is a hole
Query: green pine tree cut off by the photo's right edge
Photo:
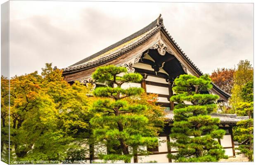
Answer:
[[249, 161], [253, 161], [253, 81], [247, 82], [242, 88], [241, 97], [244, 102], [239, 102], [236, 107], [236, 113], [240, 116], [249, 116], [248, 120], [242, 120], [237, 122], [237, 126], [234, 127], [234, 140], [242, 143], [237, 148], [240, 153], [245, 153], [248, 156]]

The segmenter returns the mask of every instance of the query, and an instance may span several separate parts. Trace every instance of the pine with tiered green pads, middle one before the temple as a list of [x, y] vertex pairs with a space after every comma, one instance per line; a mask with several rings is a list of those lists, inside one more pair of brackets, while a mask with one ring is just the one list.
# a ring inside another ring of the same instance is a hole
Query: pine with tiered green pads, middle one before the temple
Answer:
[[[123, 76], [118, 76], [121, 73]], [[92, 77], [96, 82], [107, 85], [97, 87], [93, 92], [96, 97], [101, 98], [94, 102], [92, 111], [96, 114], [90, 120], [95, 138], [107, 146], [107, 153], [100, 154], [100, 158], [124, 160], [125, 163], [129, 163], [132, 156], [137, 154], [138, 146], [158, 145], [154, 130], [157, 123], [150, 124], [152, 118], [146, 115], [147, 112], [154, 111], [148, 109], [145, 103], [135, 101], [129, 104], [127, 100], [139, 99], [144, 90], [140, 87], [121, 88], [126, 82], [140, 82], [142, 75], [127, 73], [125, 67], [110, 65], [97, 68]], [[156, 116], [155, 113], [154, 117]], [[162, 115], [157, 118], [159, 117]]]

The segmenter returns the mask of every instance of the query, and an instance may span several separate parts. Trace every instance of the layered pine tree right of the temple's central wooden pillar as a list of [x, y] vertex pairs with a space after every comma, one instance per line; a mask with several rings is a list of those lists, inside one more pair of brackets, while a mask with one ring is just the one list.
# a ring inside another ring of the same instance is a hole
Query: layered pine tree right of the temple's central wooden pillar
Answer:
[[[217, 140], [223, 138], [225, 131], [218, 129], [220, 120], [209, 115], [216, 111], [218, 99], [217, 95], [206, 93], [212, 88], [209, 75], [180, 75], [174, 85], [176, 95], [171, 101], [178, 105], [174, 109], [170, 145], [178, 153], [168, 157], [175, 162], [216, 162], [227, 158]], [[191, 105], [187, 105], [189, 102]]]

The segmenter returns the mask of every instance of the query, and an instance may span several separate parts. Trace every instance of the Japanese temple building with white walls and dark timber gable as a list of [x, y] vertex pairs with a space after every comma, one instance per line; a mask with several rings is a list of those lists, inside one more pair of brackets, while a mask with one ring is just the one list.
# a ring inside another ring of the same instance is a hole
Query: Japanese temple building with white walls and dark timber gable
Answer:
[[[87, 83], [94, 83], [91, 76], [98, 66], [110, 64], [125, 66], [128, 72], [142, 74], [143, 79], [140, 83], [126, 83], [122, 87], [142, 87], [148, 93], [158, 94], [158, 104], [165, 108], [169, 122], [165, 126], [164, 132], [159, 135], [159, 141], [170, 140], [170, 125], [173, 123], [173, 108], [175, 105], [170, 101], [170, 97], [175, 94], [172, 90], [173, 80], [182, 74], [191, 74], [199, 77], [203, 73], [168, 33], [164, 27], [161, 14], [155, 21], [140, 31], [64, 68], [63, 75], [70, 84], [78, 80], [86, 85]], [[95, 87], [97, 86], [97, 84], [94, 85]], [[228, 93], [215, 84], [213, 84], [213, 88], [209, 93], [218, 95], [218, 102], [228, 101], [230, 97]], [[190, 103], [188, 102], [187, 104]], [[223, 139], [216, 140], [223, 146], [226, 155], [236, 157], [232, 126], [236, 125], [240, 120], [247, 119], [247, 117], [219, 113], [212, 113], [211, 115], [212, 117], [220, 118], [219, 127], [226, 130]], [[168, 163], [172, 160], [168, 159], [166, 155], [176, 152], [174, 149], [168, 148], [166, 142], [151, 150], [151, 155], [138, 155], [132, 162], [142, 163], [156, 160], [158, 163]], [[97, 152], [95, 151], [95, 153]], [[94, 159], [97, 160], [96, 154]]]

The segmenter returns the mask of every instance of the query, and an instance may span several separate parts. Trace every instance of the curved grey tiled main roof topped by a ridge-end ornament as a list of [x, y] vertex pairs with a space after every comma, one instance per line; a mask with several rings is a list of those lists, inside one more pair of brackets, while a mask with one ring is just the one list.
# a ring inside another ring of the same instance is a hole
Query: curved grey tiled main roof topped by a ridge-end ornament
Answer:
[[[164, 27], [163, 19], [161, 18], [161, 14], [155, 21], [153, 21], [151, 24], [149, 24], [145, 28], [142, 28], [140, 31], [133, 33], [132, 35], [124, 38], [123, 40], [121, 40], [119, 42], [116, 42], [115, 44], [105, 48], [104, 50], [101, 50], [100, 52], [97, 52], [97, 53], [91, 55], [90, 57], [87, 57], [81, 61], [78, 61], [77, 63], [75, 63], [69, 67], [63, 68], [63, 74], [85, 70], [88, 68], [98, 66], [100, 64], [104, 64], [113, 59], [116, 59], [117, 57], [120, 57], [122, 54], [124, 54], [124, 53], [132, 50], [133, 48], [137, 47], [138, 45], [142, 44], [143, 42], [145, 42], [147, 39], [149, 39], [152, 35], [154, 35], [155, 33], [157, 33], [160, 30], [166, 35], [166, 37], [172, 43], [174, 43], [176, 49], [180, 52], [180, 54], [183, 56], [183, 58], [192, 66], [192, 68], [194, 68], [194, 70], [199, 75], [203, 75], [203, 73], [200, 71], [200, 69], [197, 68], [197, 66], [195, 66], [195, 64], [187, 57], [187, 55], [183, 52], [183, 50], [179, 47], [179, 45], [175, 42], [175, 40], [168, 33], [168, 31]], [[145, 34], [145, 35], [143, 35], [143, 34]], [[141, 38], [138, 38], [134, 42], [129, 43], [128, 45], [126, 45], [126, 47], [123, 47], [122, 49], [118, 49], [116, 51], [111, 52], [111, 50], [113, 50], [115, 47], [125, 44], [128, 41], [133, 40], [140, 35], [142, 35]], [[110, 53], [101, 57], [102, 54], [109, 52], [109, 51], [110, 51]], [[214, 83], [212, 83], [212, 84], [213, 84], [213, 87], [216, 88], [216, 90], [218, 90], [225, 97], [230, 97], [230, 94], [223, 91], [220, 87], [218, 87]]]

